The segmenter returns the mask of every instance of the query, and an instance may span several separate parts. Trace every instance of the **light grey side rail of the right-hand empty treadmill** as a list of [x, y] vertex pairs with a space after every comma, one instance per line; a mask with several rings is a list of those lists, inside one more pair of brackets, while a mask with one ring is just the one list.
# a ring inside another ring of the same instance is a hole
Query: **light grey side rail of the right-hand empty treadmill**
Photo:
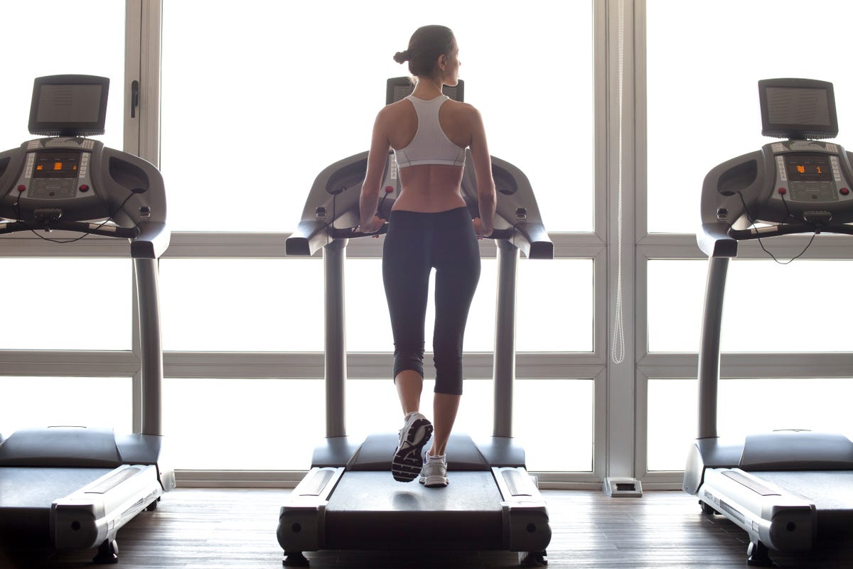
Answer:
[[699, 499], [749, 534], [786, 553], [808, 551], [817, 531], [815, 504], [740, 468], [708, 468]]

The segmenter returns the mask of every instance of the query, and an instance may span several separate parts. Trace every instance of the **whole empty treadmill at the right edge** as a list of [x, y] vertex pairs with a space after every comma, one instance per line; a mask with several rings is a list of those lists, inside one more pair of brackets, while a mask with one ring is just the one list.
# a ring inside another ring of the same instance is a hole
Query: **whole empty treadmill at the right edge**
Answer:
[[699, 438], [683, 489], [706, 514], [749, 534], [750, 565], [771, 551], [809, 551], [850, 538], [853, 442], [840, 434], [777, 431], [743, 440], [717, 436], [722, 300], [728, 261], [745, 239], [794, 233], [853, 234], [853, 155], [838, 134], [833, 85], [808, 79], [758, 82], [763, 135], [786, 140], [717, 165], [702, 187], [699, 247], [709, 256], [699, 347]]

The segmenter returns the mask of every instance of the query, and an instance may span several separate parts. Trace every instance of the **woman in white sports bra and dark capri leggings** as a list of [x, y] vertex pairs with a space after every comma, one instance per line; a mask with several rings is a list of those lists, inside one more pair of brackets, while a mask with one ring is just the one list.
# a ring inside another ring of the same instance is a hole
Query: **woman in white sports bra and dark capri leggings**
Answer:
[[[477, 238], [492, 232], [495, 182], [482, 118], [473, 106], [442, 94], [458, 82], [459, 47], [449, 28], [423, 26], [397, 52], [409, 61], [415, 90], [383, 108], [373, 129], [367, 173], [360, 197], [363, 233], [385, 223], [376, 216], [388, 149], [399, 169], [400, 194], [394, 202], [382, 253], [382, 279], [394, 336], [394, 383], [405, 415], [392, 459], [395, 480], [447, 486], [444, 455], [462, 394], [462, 336], [480, 274]], [[477, 176], [479, 217], [471, 219], [461, 193], [465, 149], [471, 149]], [[424, 320], [429, 277], [435, 268], [435, 328], [432, 349], [435, 439], [423, 447], [433, 423], [421, 414]]]

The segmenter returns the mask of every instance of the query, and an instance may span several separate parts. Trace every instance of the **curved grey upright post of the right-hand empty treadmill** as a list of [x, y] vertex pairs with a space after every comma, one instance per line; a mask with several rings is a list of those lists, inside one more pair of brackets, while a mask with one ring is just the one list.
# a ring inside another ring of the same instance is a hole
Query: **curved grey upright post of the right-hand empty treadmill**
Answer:
[[717, 388], [720, 380], [722, 299], [726, 290], [728, 257], [708, 259], [702, 336], [699, 339], [699, 439], [717, 437]]

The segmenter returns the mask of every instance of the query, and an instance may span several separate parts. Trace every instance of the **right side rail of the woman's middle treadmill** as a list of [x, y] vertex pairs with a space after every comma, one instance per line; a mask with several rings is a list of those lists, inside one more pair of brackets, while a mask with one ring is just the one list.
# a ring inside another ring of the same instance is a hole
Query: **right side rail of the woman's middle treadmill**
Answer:
[[504, 547], [530, 552], [548, 549], [548, 509], [531, 475], [521, 467], [495, 467], [491, 471], [502, 496]]

